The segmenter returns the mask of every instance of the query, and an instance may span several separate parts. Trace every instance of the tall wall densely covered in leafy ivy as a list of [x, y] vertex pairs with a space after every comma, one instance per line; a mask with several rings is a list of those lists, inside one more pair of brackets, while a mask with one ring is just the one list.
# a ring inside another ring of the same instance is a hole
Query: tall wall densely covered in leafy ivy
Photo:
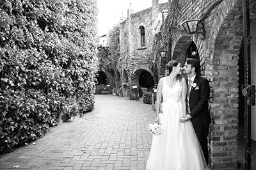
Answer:
[[92, 111], [96, 3], [0, 1], [0, 152]]

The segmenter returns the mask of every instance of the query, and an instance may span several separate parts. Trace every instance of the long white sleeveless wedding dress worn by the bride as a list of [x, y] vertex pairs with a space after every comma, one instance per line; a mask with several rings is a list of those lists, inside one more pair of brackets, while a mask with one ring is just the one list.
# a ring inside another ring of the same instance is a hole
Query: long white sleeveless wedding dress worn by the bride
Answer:
[[148, 170], [201, 170], [206, 168], [204, 153], [191, 121], [180, 123], [182, 83], [171, 88], [163, 79], [163, 113], [159, 114], [163, 132], [153, 135]]

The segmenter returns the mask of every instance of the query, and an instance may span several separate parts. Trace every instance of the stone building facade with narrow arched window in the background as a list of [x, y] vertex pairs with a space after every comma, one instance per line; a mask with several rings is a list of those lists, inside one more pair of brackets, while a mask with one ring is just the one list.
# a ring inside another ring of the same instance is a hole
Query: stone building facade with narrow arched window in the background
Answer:
[[[122, 70], [127, 69], [130, 86], [138, 85], [138, 70], [147, 70], [155, 80], [158, 77], [154, 69], [156, 66], [152, 66], [152, 60], [156, 60], [157, 55], [152, 50], [153, 40], [166, 17], [163, 10], [167, 10], [167, 7], [168, 3], [159, 4], [158, 0], [153, 0], [151, 8], [140, 12], [134, 13], [129, 8], [127, 19], [120, 23], [120, 58]], [[145, 28], [145, 45], [140, 43], [140, 26]]]

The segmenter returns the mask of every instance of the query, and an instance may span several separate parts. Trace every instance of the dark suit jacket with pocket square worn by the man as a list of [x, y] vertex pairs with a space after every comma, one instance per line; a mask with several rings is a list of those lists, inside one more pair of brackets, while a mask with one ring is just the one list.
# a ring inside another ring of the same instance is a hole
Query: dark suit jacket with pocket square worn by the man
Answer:
[[210, 97], [209, 81], [204, 77], [196, 75], [194, 83], [196, 83], [196, 87], [191, 87], [189, 95], [191, 121], [193, 126], [207, 125], [211, 123], [208, 109], [208, 100]]

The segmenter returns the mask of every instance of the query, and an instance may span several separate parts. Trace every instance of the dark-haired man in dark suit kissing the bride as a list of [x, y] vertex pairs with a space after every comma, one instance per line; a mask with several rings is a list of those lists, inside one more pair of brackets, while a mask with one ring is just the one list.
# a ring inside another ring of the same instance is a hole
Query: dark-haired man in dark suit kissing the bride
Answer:
[[184, 73], [188, 75], [188, 113], [186, 117], [180, 118], [180, 122], [186, 120], [192, 121], [196, 135], [204, 152], [205, 161], [208, 164], [208, 146], [207, 135], [209, 132], [209, 124], [211, 117], [208, 110], [208, 100], [210, 96], [209, 82], [204, 77], [200, 77], [196, 73], [200, 66], [197, 59], [188, 58], [184, 65]]

